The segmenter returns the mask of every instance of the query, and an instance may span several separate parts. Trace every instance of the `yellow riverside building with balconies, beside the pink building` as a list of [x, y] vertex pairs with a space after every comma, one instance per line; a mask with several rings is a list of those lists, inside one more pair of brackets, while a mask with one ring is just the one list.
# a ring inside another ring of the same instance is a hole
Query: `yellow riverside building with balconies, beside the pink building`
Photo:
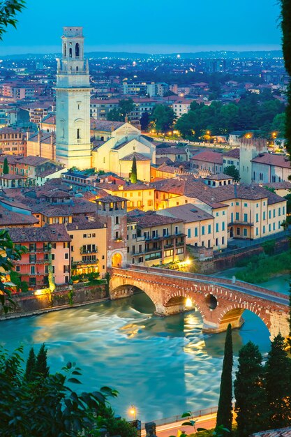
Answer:
[[96, 273], [102, 277], [107, 265], [107, 228], [103, 223], [74, 219], [67, 225], [70, 235], [72, 274]]

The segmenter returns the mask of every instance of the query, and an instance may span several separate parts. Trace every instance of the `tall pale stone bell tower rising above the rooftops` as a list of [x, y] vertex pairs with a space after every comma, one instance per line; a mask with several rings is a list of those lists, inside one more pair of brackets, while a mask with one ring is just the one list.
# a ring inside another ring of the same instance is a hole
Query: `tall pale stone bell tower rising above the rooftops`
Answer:
[[84, 170], [91, 168], [90, 81], [84, 61], [82, 27], [64, 27], [62, 59], [57, 61], [56, 159]]

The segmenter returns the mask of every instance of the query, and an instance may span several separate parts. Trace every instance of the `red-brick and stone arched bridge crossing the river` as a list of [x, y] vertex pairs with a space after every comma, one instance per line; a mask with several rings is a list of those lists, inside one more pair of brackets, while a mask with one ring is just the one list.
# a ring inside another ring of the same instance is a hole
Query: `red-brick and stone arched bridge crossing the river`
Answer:
[[170, 316], [191, 306], [200, 311], [204, 332], [222, 332], [231, 323], [241, 327], [245, 309], [260, 317], [271, 337], [289, 334], [288, 297], [267, 288], [202, 274], [156, 267], [112, 268], [110, 297], [118, 299], [144, 291], [156, 306], [156, 314]]

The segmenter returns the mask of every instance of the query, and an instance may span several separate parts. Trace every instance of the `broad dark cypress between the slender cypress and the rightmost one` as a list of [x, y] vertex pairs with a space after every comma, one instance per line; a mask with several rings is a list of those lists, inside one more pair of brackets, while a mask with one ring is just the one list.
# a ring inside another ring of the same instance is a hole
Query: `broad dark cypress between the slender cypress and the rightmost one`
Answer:
[[234, 410], [237, 413], [239, 437], [248, 437], [266, 428], [263, 371], [260, 350], [248, 341], [239, 351], [239, 365], [234, 381]]

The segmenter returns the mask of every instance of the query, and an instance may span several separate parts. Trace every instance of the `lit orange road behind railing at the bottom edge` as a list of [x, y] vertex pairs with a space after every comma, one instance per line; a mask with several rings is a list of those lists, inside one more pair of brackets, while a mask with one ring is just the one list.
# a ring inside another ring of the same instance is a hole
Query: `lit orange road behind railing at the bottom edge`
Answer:
[[[195, 418], [193, 419], [195, 420]], [[177, 432], [180, 430], [186, 431], [188, 434], [193, 433], [193, 427], [182, 427], [182, 423], [186, 422], [186, 419], [182, 422], [174, 422], [166, 425], [161, 425], [156, 428], [156, 435], [158, 437], [177, 436]], [[216, 425], [216, 414], [206, 415], [198, 417], [196, 420], [196, 428], [212, 429]], [[144, 437], [145, 431], [142, 431]]]

